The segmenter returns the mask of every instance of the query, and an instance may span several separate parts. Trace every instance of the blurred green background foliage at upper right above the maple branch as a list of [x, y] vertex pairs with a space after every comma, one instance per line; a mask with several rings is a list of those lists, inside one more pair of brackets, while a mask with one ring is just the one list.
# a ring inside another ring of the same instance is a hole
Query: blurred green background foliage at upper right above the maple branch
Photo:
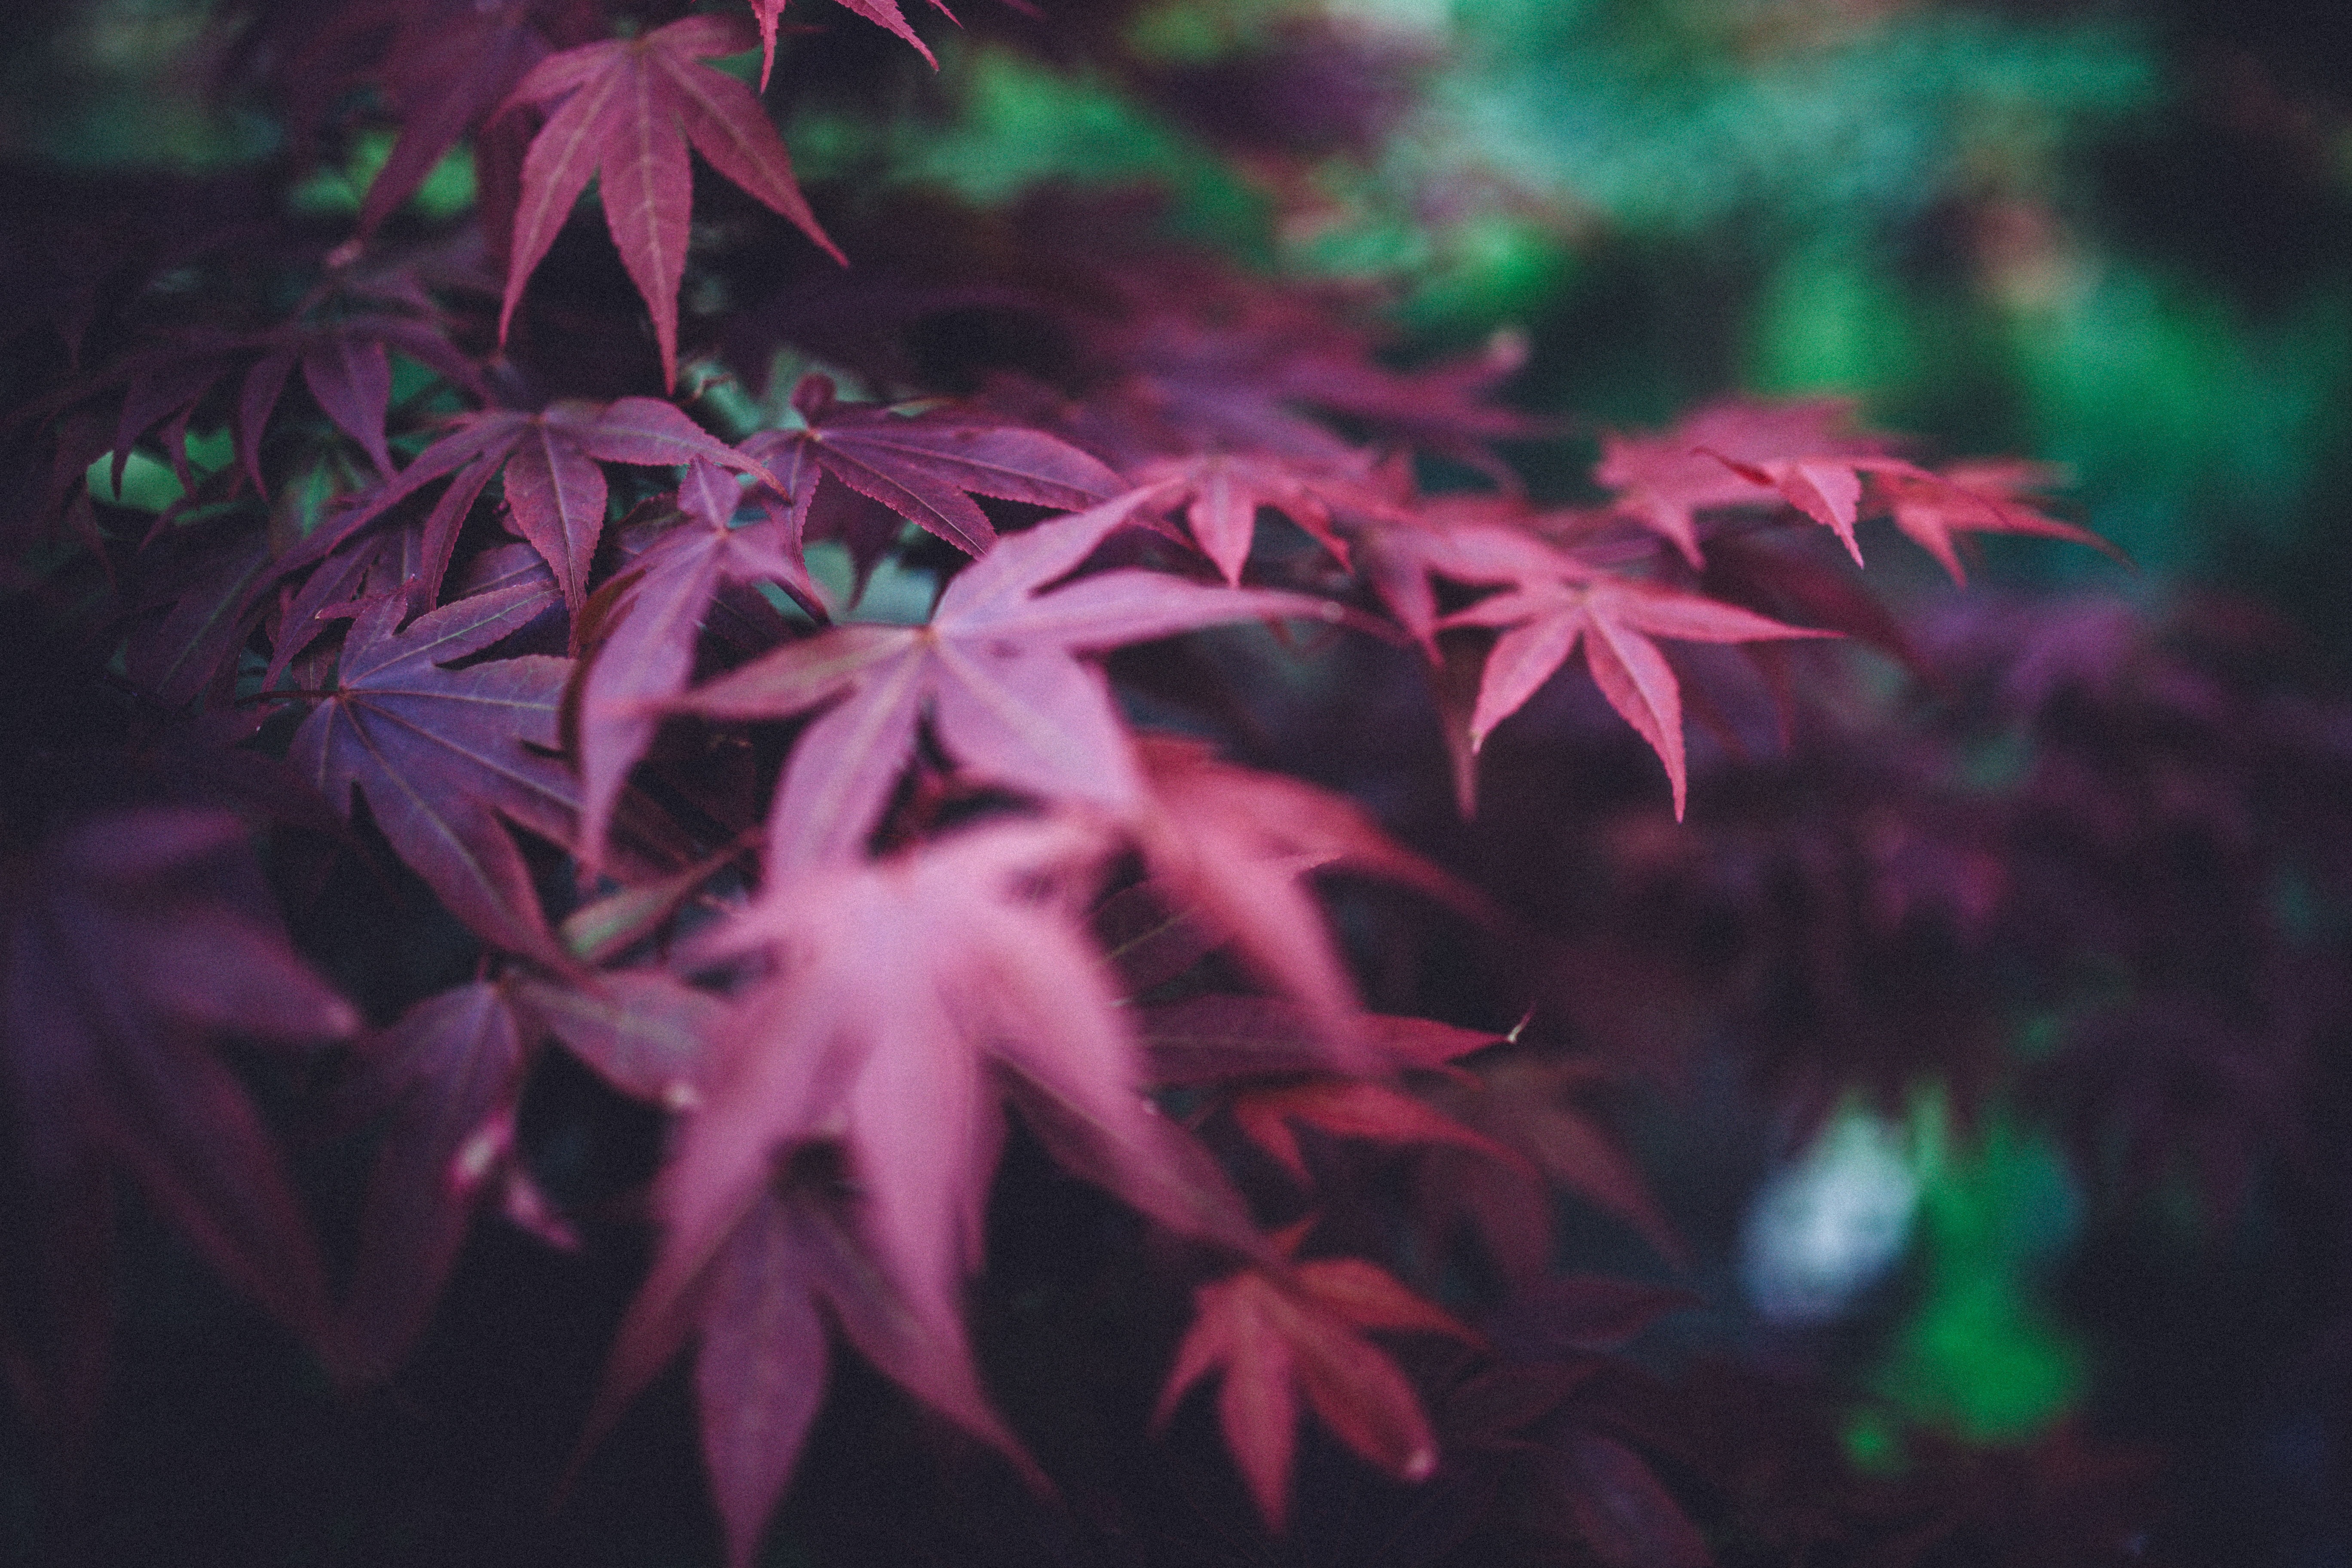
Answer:
[[[2154, 5], [1167, 0], [1127, 38], [1152, 68], [1124, 92], [950, 63], [950, 127], [896, 167], [981, 200], [1157, 183], [1178, 233], [1381, 294], [1406, 353], [1529, 329], [1522, 400], [1602, 425], [1835, 393], [1947, 451], [2032, 454], [2145, 569], [2326, 625], [2352, 110], [2293, 16], [2239, 45]], [[1364, 101], [1223, 160], [1188, 129], [1207, 63], [1312, 99], [1334, 54]], [[1529, 465], [1573, 491], [1585, 456]]]

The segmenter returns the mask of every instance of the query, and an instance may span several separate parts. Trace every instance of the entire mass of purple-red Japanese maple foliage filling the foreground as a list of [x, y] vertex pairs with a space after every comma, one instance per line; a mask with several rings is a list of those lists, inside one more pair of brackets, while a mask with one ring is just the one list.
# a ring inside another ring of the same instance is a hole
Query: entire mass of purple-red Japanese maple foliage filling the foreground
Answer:
[[[0, 743], [0, 1349], [45, 1439], [103, 1443], [120, 1185], [358, 1401], [463, 1333], [487, 1232], [619, 1260], [626, 1307], [532, 1302], [609, 1345], [541, 1443], [569, 1509], [689, 1356], [750, 1563], [856, 1432], [863, 1363], [1014, 1481], [993, 1507], [1117, 1542], [1145, 1526], [993, 1359], [1035, 1222], [993, 1206], [1063, 1182], [1122, 1262], [1042, 1300], [1112, 1319], [1129, 1368], [1063, 1389], [1094, 1399], [1073, 1420], [1232, 1488], [1232, 1530], [1279, 1535], [1343, 1472], [1411, 1521], [1392, 1561], [1926, 1561], [1905, 1542], [1978, 1528], [1976, 1469], [1889, 1502], [1811, 1403], [1724, 1434], [1759, 1382], [1623, 1354], [1698, 1300], [1658, 1284], [1698, 1248], [1618, 1140], [1625, 1084], [1689, 1081], [1710, 1020], [1755, 1023], [1743, 1065], [1804, 1110], [1973, 1081], [1994, 1004], [1905, 969], [1922, 924], [2082, 1020], [2032, 1093], [2140, 1164], [2199, 1081], [2277, 1110], [2336, 1020], [2178, 973], [2176, 1086], [2086, 1088], [2159, 994], [2093, 1006], [2025, 954], [2086, 882], [2098, 914], [2187, 898], [2131, 832], [2331, 889], [2352, 863], [2230, 820], [2296, 759], [2340, 766], [2340, 731], [2284, 705], [2267, 762], [2230, 759], [2230, 703], [2154, 663], [2034, 621], [2004, 677], [1992, 623], [1922, 630], [1853, 576], [1884, 522], [1952, 578], [1980, 534], [2098, 543], [2039, 510], [2039, 468], [1722, 402], [1538, 503], [1498, 444], [1557, 428], [1498, 400], [1508, 343], [1399, 369], [1350, 301], [1136, 254], [1115, 214], [891, 249], [901, 197], [804, 193], [776, 125], [828, 49], [936, 63], [894, 0], [252, 9], [280, 216], [9, 343], [0, 590], [38, 693]], [[1112, 47], [1051, 7], [990, 26]], [[294, 160], [360, 122], [393, 141], [353, 223], [282, 216]], [[456, 146], [477, 200], [435, 228], [405, 202]], [[720, 183], [757, 209], [706, 221]], [[920, 331], [974, 301], [1061, 353], [927, 369]], [[141, 510], [134, 463], [176, 494]], [[1839, 637], [2039, 724], [2032, 788], [1938, 792], [1823, 719], [1860, 712]], [[1743, 773], [1686, 712], [1795, 741]], [[2136, 785], [2070, 750], [2077, 712], [2194, 752], [2180, 792], [2093, 806]], [[1656, 762], [1611, 823], [1529, 792], [1529, 757], [1628, 743]], [[1806, 769], [1853, 785], [1759, 806]], [[1454, 797], [1482, 839], [1421, 811]], [[1755, 945], [1731, 976], [1691, 936], [1715, 905]], [[2263, 961], [2317, 973], [2291, 947]], [[583, 1126], [640, 1128], [640, 1168], [597, 1187], [534, 1140], [564, 1081]], [[2194, 1159], [2244, 1190], [2218, 1143]], [[1613, 1262], [1564, 1258], [1562, 1213]], [[1813, 1514], [1755, 1474], [1773, 1443], [1832, 1476]], [[2082, 1486], [2129, 1472], [2067, 1453]], [[2122, 1552], [2105, 1519], [2067, 1540]]]

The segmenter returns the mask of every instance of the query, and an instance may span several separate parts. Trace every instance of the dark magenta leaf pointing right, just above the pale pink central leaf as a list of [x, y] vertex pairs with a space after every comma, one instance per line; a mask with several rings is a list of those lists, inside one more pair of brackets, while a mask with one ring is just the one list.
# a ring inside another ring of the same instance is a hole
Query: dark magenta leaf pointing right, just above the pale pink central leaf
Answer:
[[786, 534], [802, 538], [818, 480], [833, 475], [964, 555], [995, 543], [971, 496], [1080, 510], [1127, 489], [1101, 461], [1044, 430], [953, 409], [894, 411], [835, 402], [830, 376], [793, 388], [800, 430], [760, 430], [743, 454], [767, 463], [790, 508]]

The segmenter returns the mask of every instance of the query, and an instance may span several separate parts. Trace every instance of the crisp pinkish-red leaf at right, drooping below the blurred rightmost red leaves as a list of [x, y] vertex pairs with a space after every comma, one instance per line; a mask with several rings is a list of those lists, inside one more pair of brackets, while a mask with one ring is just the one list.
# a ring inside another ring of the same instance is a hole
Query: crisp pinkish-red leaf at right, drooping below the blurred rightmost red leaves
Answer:
[[1689, 792], [1682, 762], [1682, 682], [1675, 679], [1672, 665], [1665, 663], [1665, 654], [1651, 637], [1684, 642], [1835, 637], [1835, 632], [1766, 621], [1722, 599], [1599, 574], [1585, 581], [1552, 578], [1505, 588], [1446, 616], [1439, 625], [1508, 628], [1486, 654], [1477, 708], [1470, 715], [1472, 748], [1517, 712], [1583, 642], [1585, 665], [1602, 696], [1665, 764], [1665, 778], [1675, 788], [1677, 820], [1682, 820]]

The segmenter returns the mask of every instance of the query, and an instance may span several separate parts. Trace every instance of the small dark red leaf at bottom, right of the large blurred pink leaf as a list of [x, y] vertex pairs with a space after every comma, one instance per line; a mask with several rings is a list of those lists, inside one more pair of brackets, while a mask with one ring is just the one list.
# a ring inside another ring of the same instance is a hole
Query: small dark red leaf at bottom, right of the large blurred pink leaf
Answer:
[[[1296, 1244], [1303, 1229], [1294, 1227], [1287, 1241]], [[1282, 1272], [1251, 1267], [1200, 1286], [1192, 1312], [1152, 1422], [1167, 1425], [1185, 1389], [1223, 1368], [1218, 1425], [1272, 1528], [1289, 1512], [1301, 1392], [1378, 1469], [1399, 1481], [1425, 1481], [1437, 1469], [1437, 1439], [1414, 1385], [1357, 1331], [1444, 1333], [1472, 1345], [1477, 1335], [1385, 1269], [1362, 1258], [1322, 1258]]]

